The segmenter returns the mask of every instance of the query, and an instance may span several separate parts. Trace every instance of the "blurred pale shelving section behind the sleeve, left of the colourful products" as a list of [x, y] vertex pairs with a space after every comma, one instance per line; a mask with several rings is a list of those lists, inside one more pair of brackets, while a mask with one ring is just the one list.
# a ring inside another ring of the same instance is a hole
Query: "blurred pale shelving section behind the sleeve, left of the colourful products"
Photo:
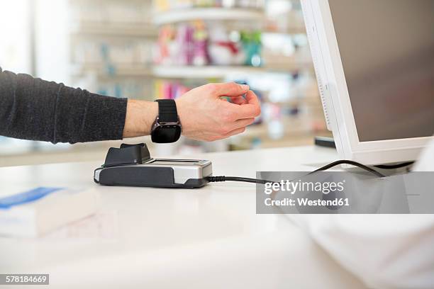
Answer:
[[150, 98], [157, 29], [143, 14], [147, 11], [152, 11], [150, 1], [69, 0], [73, 84], [100, 94]]

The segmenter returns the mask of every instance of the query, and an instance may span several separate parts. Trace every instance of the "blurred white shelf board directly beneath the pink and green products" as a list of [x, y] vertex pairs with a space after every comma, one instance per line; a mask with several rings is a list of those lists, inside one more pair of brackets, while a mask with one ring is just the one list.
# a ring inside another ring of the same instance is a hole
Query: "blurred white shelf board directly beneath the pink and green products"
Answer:
[[152, 73], [155, 77], [169, 79], [208, 79], [208, 78], [224, 78], [230, 74], [250, 74], [264, 72], [262, 67], [247, 67], [247, 66], [165, 66], [157, 65], [152, 68]]

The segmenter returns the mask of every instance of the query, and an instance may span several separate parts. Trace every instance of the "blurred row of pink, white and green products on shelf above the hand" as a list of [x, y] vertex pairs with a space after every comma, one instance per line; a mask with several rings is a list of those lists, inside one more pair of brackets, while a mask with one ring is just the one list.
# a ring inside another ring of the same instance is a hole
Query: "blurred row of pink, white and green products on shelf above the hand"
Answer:
[[190, 21], [160, 28], [155, 63], [259, 67], [261, 46], [260, 31], [228, 30], [222, 23]]

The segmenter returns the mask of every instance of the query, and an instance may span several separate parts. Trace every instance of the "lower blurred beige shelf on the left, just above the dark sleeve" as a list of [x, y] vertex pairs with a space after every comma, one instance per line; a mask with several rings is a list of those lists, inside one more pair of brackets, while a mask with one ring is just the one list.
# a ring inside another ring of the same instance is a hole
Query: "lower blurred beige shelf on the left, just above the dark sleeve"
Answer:
[[149, 66], [138, 64], [75, 64], [72, 71], [75, 77], [85, 74], [96, 74], [97, 77], [152, 77]]

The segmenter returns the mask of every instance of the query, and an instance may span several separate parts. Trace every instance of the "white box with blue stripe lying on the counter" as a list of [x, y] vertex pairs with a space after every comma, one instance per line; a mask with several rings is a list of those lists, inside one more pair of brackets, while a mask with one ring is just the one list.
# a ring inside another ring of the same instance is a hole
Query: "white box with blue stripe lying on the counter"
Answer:
[[0, 235], [38, 237], [96, 212], [94, 189], [33, 188], [0, 198]]

